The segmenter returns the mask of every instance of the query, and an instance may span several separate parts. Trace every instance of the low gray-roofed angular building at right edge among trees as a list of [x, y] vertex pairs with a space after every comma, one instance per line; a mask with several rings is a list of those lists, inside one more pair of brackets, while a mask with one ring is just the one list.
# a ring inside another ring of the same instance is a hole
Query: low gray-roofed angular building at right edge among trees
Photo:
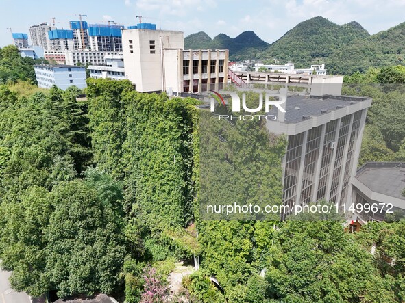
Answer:
[[[382, 221], [386, 211], [405, 214], [405, 163], [371, 162], [351, 177], [349, 205], [354, 204], [357, 222]], [[391, 203], [391, 206], [387, 206]], [[374, 209], [373, 209], [374, 208]], [[357, 211], [358, 210], [358, 211]]]

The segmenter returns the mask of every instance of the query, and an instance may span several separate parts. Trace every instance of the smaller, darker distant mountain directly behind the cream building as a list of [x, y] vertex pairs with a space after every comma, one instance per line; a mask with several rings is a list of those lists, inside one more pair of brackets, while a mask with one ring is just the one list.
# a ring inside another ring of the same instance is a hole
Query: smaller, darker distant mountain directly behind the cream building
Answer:
[[184, 38], [185, 49], [229, 49], [230, 60], [249, 60], [265, 51], [269, 43], [260, 39], [254, 31], [244, 31], [235, 38], [219, 34], [211, 39], [204, 31]]

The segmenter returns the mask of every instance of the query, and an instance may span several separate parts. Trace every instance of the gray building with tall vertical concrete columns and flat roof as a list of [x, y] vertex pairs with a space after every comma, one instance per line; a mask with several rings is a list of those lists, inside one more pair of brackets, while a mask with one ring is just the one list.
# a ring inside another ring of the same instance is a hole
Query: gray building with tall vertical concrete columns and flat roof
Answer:
[[267, 128], [286, 134], [289, 142], [283, 159], [285, 205], [347, 203], [370, 106], [371, 98], [327, 94], [291, 96], [286, 113], [271, 109], [278, 119], [267, 121]]

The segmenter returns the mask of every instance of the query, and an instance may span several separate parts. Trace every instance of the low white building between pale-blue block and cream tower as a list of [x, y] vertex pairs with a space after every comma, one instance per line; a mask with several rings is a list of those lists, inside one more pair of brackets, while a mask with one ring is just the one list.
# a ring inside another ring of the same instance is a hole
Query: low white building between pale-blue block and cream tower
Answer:
[[124, 56], [123, 55], [106, 55], [104, 60], [106, 64], [101, 66], [90, 65], [88, 70], [90, 71], [90, 77], [94, 79], [110, 78], [114, 80], [125, 79], [124, 68]]

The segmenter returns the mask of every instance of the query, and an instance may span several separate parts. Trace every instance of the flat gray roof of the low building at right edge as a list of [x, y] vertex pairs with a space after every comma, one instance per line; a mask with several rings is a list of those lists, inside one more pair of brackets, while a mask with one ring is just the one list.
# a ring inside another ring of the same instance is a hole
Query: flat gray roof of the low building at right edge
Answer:
[[373, 192], [400, 198], [405, 189], [405, 163], [369, 162], [358, 169], [356, 179]]

